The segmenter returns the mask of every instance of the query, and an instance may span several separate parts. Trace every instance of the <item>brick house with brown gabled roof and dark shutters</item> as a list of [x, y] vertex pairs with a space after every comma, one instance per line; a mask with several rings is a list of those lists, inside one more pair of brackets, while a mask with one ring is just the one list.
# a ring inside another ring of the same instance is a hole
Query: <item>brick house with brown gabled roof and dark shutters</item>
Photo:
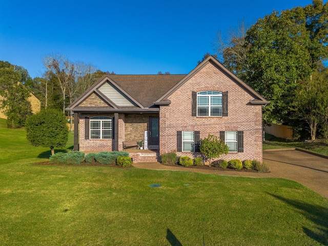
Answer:
[[213, 134], [223, 158], [262, 161], [261, 95], [210, 56], [185, 75], [104, 75], [66, 110], [74, 112], [74, 150], [122, 150], [144, 139], [159, 154], [199, 155]]

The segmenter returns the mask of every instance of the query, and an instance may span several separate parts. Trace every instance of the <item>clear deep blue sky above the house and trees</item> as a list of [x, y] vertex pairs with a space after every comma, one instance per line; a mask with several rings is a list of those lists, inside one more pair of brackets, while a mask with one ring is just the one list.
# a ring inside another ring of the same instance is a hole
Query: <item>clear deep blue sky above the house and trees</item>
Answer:
[[0, 0], [0, 60], [23, 66], [32, 77], [43, 74], [43, 57], [57, 53], [117, 74], [186, 74], [204, 54], [214, 53], [218, 30], [309, 4], [312, 0]]

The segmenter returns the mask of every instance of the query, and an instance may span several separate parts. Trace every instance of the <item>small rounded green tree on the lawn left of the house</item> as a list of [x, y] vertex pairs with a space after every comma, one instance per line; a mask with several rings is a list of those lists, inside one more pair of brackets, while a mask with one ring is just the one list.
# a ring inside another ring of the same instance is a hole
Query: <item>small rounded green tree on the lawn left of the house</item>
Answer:
[[26, 120], [27, 140], [33, 146], [54, 148], [65, 147], [68, 140], [67, 119], [56, 109], [43, 109]]

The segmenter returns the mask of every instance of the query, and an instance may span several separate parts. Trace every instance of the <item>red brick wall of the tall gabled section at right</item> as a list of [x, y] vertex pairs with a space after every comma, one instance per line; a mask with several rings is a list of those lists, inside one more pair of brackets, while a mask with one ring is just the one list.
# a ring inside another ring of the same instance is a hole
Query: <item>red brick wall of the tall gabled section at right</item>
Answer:
[[[228, 91], [227, 117], [192, 117], [192, 91]], [[160, 106], [160, 154], [176, 152], [177, 131], [200, 131], [200, 138], [208, 134], [219, 136], [220, 131], [243, 131], [244, 152], [229, 153], [220, 158], [256, 159], [262, 161], [262, 109], [247, 105], [253, 97], [233, 80], [209, 63], [169, 98], [169, 106]], [[193, 157], [191, 152], [178, 152], [178, 156]]]

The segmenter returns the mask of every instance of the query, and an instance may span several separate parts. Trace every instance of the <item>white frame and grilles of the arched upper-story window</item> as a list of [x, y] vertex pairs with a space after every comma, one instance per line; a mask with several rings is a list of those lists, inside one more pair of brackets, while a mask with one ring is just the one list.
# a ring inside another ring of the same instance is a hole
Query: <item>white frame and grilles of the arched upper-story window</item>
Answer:
[[[200, 99], [206, 99], [206, 104], [201, 104]], [[219, 104], [214, 105], [213, 99], [219, 99]], [[219, 115], [212, 115], [212, 109], [220, 109]], [[200, 109], [207, 109], [207, 114], [199, 114]], [[211, 117], [221, 117], [222, 116], [222, 92], [219, 91], [200, 91], [197, 92], [197, 116], [211, 116]]]

